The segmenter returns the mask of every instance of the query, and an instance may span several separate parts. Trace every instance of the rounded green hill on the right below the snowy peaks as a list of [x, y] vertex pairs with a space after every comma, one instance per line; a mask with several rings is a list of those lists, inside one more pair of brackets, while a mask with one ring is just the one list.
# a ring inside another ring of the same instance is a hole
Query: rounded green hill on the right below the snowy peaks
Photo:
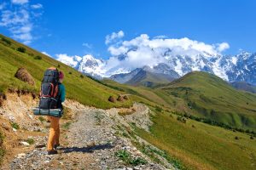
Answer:
[[212, 74], [191, 72], [156, 91], [166, 100], [183, 100], [179, 107], [190, 114], [256, 129], [256, 95], [238, 91]]

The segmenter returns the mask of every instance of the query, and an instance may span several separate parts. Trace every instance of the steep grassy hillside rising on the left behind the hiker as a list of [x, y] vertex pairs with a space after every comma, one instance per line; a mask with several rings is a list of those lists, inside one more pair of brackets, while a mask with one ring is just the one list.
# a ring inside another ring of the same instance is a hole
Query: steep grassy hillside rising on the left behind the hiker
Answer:
[[[18, 51], [18, 48], [25, 48], [25, 53]], [[131, 99], [124, 103], [111, 103], [108, 101], [108, 97], [110, 95], [117, 97], [122, 92], [85, 77], [72, 67], [3, 35], [0, 35], [0, 64], [0, 91], [3, 93], [6, 93], [9, 88], [38, 92], [44, 71], [50, 66], [55, 66], [65, 74], [63, 83], [67, 88], [67, 98], [76, 99], [84, 105], [111, 108], [113, 106], [130, 106], [134, 99], [147, 102], [145, 99], [131, 96]], [[35, 86], [30, 86], [15, 78], [15, 72], [20, 67], [26, 68], [31, 73], [36, 82]]]

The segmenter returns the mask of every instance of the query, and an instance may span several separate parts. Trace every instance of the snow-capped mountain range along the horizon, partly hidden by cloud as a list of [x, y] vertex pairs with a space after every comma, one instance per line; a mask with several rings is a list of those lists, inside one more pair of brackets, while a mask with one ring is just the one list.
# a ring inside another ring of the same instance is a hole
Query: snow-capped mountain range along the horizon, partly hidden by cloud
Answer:
[[[137, 49], [132, 50], [134, 52]], [[242, 52], [232, 56], [208, 54], [205, 52], [189, 55], [174, 54], [171, 49], [166, 48], [165, 51], [161, 51], [157, 55], [160, 55], [159, 63], [148, 65], [147, 67], [155, 73], [177, 74], [181, 77], [190, 71], [207, 71], [228, 82], [248, 82], [256, 85], [256, 54]], [[137, 68], [132, 68], [132, 65], [127, 66], [127, 63], [125, 63], [127, 62], [127, 54], [118, 55], [108, 60], [95, 59], [91, 55], [85, 55], [84, 57], [74, 56], [72, 60], [61, 58], [59, 60], [93, 77], [112, 76], [118, 82], [125, 82], [127, 79], [135, 76], [135, 73], [138, 71], [136, 70]], [[131, 74], [128, 77], [124, 75], [124, 73], [130, 72]]]

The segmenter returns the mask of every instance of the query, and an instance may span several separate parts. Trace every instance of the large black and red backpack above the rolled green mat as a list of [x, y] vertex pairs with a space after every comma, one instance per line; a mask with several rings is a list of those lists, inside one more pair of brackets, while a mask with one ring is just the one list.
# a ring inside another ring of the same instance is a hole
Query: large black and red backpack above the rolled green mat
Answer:
[[58, 105], [59, 71], [49, 68], [44, 71], [41, 83], [39, 109], [56, 109]]

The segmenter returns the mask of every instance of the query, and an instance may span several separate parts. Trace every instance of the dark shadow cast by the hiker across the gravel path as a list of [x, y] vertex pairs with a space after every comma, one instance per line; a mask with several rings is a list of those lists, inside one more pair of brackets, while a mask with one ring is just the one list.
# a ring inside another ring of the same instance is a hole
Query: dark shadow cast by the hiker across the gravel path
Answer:
[[70, 153], [70, 152], [82, 152], [82, 153], [91, 153], [94, 150], [106, 150], [112, 149], [114, 146], [112, 144], [99, 144], [95, 146], [88, 146], [88, 147], [66, 147], [60, 148], [63, 153]]

